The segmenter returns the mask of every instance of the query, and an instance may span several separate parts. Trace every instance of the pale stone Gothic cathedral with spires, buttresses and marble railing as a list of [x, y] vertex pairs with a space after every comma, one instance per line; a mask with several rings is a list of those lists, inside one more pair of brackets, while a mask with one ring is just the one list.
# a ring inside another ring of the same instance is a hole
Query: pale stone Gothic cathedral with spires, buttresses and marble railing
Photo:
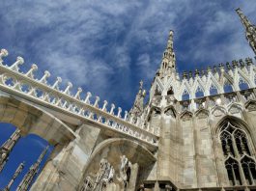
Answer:
[[[256, 26], [236, 10], [256, 54]], [[251, 58], [177, 72], [170, 31], [149, 100], [143, 82], [129, 111], [82, 95], [23, 58], [5, 65], [0, 52], [0, 122], [17, 129], [0, 148], [0, 173], [15, 143], [33, 133], [48, 148], [19, 183], [33, 191], [256, 191], [256, 67]], [[10, 183], [22, 172], [21, 163]], [[37, 177], [38, 176], [38, 177]], [[36, 178], [37, 177], [37, 178]]]

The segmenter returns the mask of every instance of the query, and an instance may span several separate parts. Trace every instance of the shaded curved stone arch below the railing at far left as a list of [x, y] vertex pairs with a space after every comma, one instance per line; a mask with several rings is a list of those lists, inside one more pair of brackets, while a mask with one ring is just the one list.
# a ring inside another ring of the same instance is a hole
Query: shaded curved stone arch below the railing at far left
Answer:
[[51, 145], [68, 143], [75, 138], [68, 125], [30, 103], [0, 95], [0, 108], [0, 122], [13, 123], [23, 135], [39, 135]]

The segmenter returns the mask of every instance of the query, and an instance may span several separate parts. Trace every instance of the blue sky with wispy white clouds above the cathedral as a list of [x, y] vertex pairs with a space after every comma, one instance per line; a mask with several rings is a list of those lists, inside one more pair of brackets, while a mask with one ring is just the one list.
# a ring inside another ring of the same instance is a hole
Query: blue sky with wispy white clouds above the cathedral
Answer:
[[0, 48], [7, 65], [22, 56], [21, 70], [36, 63], [38, 78], [49, 70], [50, 82], [129, 110], [141, 79], [150, 89], [169, 30], [180, 72], [254, 57], [239, 7], [256, 23], [255, 0], [1, 0]]

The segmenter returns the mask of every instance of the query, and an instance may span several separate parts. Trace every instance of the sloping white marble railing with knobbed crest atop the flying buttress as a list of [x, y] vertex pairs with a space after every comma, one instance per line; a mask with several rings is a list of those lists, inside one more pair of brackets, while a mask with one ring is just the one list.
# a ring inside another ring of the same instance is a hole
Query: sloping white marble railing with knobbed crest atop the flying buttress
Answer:
[[156, 131], [144, 126], [142, 119], [132, 120], [132, 116], [128, 116], [127, 111], [122, 117], [122, 108], [118, 107], [118, 111], [115, 112], [114, 104], [111, 104], [110, 110], [107, 111], [106, 100], [103, 101], [100, 108], [100, 97], [96, 96], [92, 102], [92, 94], [88, 92], [83, 99], [81, 98], [81, 88], [78, 88], [75, 95], [71, 95], [71, 82], [68, 83], [65, 90], [60, 90], [59, 85], [62, 82], [60, 77], [57, 77], [53, 85], [48, 84], [47, 79], [50, 77], [50, 72], [47, 70], [44, 71], [41, 79], [36, 79], [34, 72], [38, 67], [35, 64], [25, 73], [20, 71], [19, 67], [24, 63], [21, 57], [17, 57], [12, 66], [4, 65], [3, 57], [6, 56], [8, 56], [8, 51], [2, 49], [0, 51], [0, 88], [3, 91], [25, 97], [36, 103], [50, 105], [63, 112], [71, 113], [77, 118], [98, 123], [100, 127], [157, 146]]

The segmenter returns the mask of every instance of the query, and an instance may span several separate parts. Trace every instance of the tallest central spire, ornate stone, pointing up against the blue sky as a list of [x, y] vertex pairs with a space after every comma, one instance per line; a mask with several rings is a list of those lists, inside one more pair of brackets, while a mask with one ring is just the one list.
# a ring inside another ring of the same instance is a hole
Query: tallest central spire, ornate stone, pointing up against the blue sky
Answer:
[[159, 74], [161, 76], [170, 75], [176, 69], [176, 59], [173, 49], [173, 31], [169, 33], [169, 38], [167, 41], [167, 46], [163, 52], [163, 57], [161, 61], [161, 66], [159, 69]]

